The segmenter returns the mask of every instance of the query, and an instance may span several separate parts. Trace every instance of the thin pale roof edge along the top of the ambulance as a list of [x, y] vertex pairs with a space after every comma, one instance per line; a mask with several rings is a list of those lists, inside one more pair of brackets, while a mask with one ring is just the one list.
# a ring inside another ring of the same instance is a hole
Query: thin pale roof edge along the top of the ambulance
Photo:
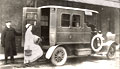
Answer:
[[98, 11], [95, 10], [89, 10], [89, 9], [82, 9], [82, 8], [73, 8], [73, 7], [65, 7], [65, 6], [56, 6], [56, 5], [47, 5], [47, 6], [41, 6], [41, 7], [24, 7], [23, 9], [40, 9], [40, 8], [60, 8], [60, 9], [70, 9], [70, 10], [79, 10], [79, 11], [84, 11], [84, 12], [94, 12], [94, 13], [99, 13]]

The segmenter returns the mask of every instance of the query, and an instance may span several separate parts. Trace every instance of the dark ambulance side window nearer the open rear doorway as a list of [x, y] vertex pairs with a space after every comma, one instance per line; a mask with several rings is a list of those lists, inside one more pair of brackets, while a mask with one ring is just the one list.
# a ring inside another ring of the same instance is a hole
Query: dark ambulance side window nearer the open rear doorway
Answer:
[[62, 27], [69, 27], [70, 26], [70, 14], [62, 14], [61, 19], [61, 26]]

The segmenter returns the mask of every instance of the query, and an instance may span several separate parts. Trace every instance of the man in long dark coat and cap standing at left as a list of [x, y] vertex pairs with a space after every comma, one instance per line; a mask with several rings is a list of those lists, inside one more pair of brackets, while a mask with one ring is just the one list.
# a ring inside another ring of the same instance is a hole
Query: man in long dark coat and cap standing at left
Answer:
[[7, 64], [8, 56], [11, 57], [11, 62], [14, 63], [14, 55], [17, 55], [15, 35], [18, 33], [11, 27], [11, 21], [6, 22], [6, 27], [1, 35], [1, 44], [4, 47], [5, 63]]

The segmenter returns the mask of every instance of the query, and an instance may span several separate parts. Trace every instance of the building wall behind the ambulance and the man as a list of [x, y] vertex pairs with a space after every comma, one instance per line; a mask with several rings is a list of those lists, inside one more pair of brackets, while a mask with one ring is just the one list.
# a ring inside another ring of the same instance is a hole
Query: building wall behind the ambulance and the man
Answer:
[[[7, 20], [12, 21], [16, 31], [21, 32], [23, 7], [59, 5], [96, 10], [99, 12], [97, 28], [105, 35], [108, 31], [116, 34], [120, 43], [120, 1], [119, 0], [0, 0], [0, 34]], [[21, 52], [21, 37], [16, 39], [17, 50]], [[3, 48], [0, 45], [0, 53]]]

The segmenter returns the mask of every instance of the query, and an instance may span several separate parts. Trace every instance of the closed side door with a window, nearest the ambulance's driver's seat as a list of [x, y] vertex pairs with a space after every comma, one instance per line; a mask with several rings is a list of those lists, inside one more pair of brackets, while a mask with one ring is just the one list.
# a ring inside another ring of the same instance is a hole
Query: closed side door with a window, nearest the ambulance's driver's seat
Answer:
[[71, 42], [83, 43], [84, 42], [84, 26], [83, 26], [83, 12], [73, 11], [71, 15]]

